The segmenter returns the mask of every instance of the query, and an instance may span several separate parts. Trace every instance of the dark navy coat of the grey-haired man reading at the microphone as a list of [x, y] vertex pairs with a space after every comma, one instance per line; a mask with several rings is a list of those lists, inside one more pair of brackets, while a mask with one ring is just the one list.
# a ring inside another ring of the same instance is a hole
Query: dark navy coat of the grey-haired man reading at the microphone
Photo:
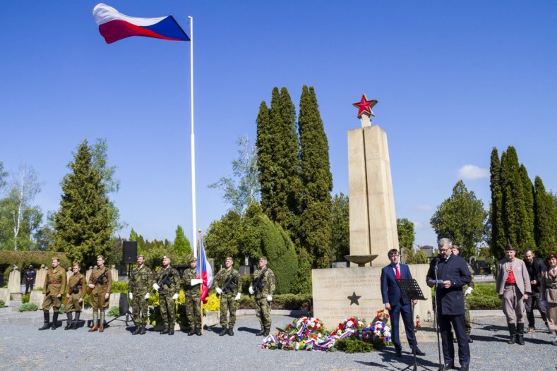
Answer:
[[435, 280], [435, 267], [437, 265], [437, 279], [450, 281], [450, 287], [444, 288], [438, 284], [436, 288], [437, 310], [439, 315], [464, 315], [464, 295], [462, 286], [470, 283], [472, 277], [468, 264], [462, 257], [451, 254], [445, 259], [435, 258], [429, 265], [427, 280]]

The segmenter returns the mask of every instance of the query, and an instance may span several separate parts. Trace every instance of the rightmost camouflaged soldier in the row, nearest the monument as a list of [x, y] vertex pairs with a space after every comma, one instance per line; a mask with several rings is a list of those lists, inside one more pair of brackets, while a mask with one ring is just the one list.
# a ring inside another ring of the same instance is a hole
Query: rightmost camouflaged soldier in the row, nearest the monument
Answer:
[[275, 292], [275, 274], [267, 267], [267, 257], [259, 258], [259, 269], [253, 272], [249, 293], [256, 297], [256, 316], [261, 331], [256, 336], [268, 336], [271, 328], [271, 302]]

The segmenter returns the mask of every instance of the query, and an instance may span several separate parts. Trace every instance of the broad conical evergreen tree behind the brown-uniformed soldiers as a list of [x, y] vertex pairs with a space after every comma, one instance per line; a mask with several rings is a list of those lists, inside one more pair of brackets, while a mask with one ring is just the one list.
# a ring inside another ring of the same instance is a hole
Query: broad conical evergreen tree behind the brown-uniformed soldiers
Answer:
[[114, 212], [102, 174], [87, 140], [78, 145], [69, 174], [61, 182], [60, 209], [54, 215], [54, 245], [73, 262], [94, 265], [97, 255], [108, 260]]

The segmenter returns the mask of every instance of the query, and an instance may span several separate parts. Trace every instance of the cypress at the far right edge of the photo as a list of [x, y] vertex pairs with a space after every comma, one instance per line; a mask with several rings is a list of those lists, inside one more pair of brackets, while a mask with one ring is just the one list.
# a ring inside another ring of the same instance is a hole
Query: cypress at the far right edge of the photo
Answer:
[[557, 209], [553, 206], [553, 196], [546, 192], [544, 183], [537, 176], [534, 179], [534, 237], [536, 253], [545, 257], [557, 245]]

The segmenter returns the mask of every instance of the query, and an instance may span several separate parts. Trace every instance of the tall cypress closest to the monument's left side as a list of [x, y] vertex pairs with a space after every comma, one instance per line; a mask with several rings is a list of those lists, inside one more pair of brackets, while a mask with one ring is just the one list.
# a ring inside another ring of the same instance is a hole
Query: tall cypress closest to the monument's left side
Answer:
[[313, 266], [328, 267], [330, 244], [331, 196], [329, 144], [319, 113], [313, 87], [302, 88], [298, 118], [300, 136], [301, 245], [313, 256]]

